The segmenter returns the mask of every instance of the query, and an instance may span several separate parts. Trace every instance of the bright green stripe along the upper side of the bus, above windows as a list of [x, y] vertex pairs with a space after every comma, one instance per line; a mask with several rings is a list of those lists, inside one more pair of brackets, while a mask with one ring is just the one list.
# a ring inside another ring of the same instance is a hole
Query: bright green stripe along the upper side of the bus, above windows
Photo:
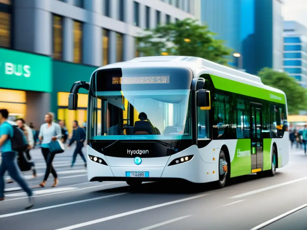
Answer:
[[286, 104], [285, 95], [283, 94], [215, 75], [210, 76], [216, 89], [228, 91], [235, 94], [242, 94], [249, 97], [259, 98], [271, 102]]

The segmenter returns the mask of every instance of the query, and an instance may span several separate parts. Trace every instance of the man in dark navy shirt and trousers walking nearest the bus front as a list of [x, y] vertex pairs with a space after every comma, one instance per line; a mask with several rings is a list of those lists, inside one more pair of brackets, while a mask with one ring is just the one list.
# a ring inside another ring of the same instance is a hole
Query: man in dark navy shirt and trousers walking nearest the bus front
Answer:
[[84, 129], [81, 128], [78, 125], [78, 121], [74, 121], [73, 122], [72, 138], [70, 139], [70, 142], [68, 144], [68, 147], [70, 147], [72, 145], [72, 143], [76, 141], [76, 148], [75, 148], [75, 151], [72, 155], [72, 165], [71, 165], [71, 167], [73, 167], [75, 162], [76, 162], [77, 154], [80, 154], [82, 160], [84, 161], [84, 166], [86, 167], [86, 159], [85, 159], [83, 152], [82, 152], [85, 137], [86, 137], [86, 133], [84, 132]]

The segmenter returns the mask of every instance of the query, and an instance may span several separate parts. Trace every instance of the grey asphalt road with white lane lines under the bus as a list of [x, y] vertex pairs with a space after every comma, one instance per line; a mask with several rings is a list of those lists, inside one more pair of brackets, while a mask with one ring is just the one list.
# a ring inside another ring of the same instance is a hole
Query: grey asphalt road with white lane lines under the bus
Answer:
[[[27, 173], [26, 178], [37, 186], [45, 165], [39, 150], [32, 155], [39, 174], [33, 179]], [[30, 210], [24, 210], [27, 196], [16, 183], [6, 186], [0, 229], [307, 229], [307, 208], [293, 213], [307, 203], [307, 156], [301, 150], [291, 151], [289, 164], [272, 178], [243, 176], [220, 190], [210, 184], [192, 189], [186, 184], [145, 183], [135, 191], [125, 182], [88, 182], [80, 157], [70, 168], [71, 155], [69, 150], [56, 156], [59, 186], [51, 188], [50, 175], [46, 188], [33, 189], [35, 206]]]

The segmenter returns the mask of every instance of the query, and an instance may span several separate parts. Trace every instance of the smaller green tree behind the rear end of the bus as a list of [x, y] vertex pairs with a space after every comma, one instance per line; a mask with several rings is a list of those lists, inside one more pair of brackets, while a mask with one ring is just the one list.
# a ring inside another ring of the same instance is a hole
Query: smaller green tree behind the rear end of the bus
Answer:
[[307, 90], [297, 81], [283, 72], [263, 68], [258, 72], [263, 84], [272, 86], [285, 92], [287, 97], [288, 112], [297, 114], [299, 110], [305, 110], [307, 106]]

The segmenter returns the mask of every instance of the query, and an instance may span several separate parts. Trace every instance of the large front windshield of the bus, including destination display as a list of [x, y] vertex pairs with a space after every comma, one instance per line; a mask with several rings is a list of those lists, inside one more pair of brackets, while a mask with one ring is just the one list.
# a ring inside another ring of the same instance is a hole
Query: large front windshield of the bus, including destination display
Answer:
[[191, 139], [191, 82], [185, 68], [98, 71], [90, 89], [90, 139]]

